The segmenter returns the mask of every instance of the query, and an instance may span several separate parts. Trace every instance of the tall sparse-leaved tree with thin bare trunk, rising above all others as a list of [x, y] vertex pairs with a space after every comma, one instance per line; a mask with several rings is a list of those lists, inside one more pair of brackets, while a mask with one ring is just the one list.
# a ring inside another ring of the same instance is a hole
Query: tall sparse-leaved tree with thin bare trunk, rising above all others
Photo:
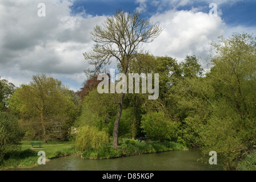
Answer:
[[[117, 10], [107, 17], [102, 26], [96, 26], [91, 32], [92, 39], [96, 43], [91, 52], [83, 55], [94, 65], [90, 73], [99, 73], [101, 68], [110, 64], [111, 60], [117, 60], [119, 71], [127, 74], [132, 60], [136, 55], [143, 53], [142, 44], [150, 43], [161, 33], [159, 24], [151, 24], [149, 20], [141, 17], [138, 11], [134, 13]], [[118, 146], [119, 120], [122, 114], [123, 98], [120, 94], [118, 113], [114, 123], [113, 147]]]

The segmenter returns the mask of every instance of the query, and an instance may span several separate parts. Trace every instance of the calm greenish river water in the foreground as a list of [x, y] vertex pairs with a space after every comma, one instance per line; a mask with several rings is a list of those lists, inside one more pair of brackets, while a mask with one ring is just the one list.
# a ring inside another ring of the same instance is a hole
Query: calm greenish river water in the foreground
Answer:
[[71, 155], [52, 159], [45, 165], [33, 168], [7, 170], [21, 171], [221, 171], [221, 159], [217, 164], [207, 162], [210, 156], [202, 155], [197, 149], [185, 151], [143, 154], [115, 159], [81, 159], [81, 155]]

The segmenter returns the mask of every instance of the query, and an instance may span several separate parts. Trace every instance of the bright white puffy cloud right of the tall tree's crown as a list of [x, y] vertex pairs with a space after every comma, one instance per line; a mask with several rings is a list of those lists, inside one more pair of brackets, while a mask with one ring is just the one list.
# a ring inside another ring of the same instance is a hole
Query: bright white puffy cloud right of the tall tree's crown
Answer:
[[146, 44], [145, 49], [153, 55], [168, 55], [179, 61], [186, 55], [201, 56], [205, 60], [209, 43], [226, 30], [221, 17], [193, 11], [169, 10], [152, 16], [150, 22], [159, 22], [163, 31], [153, 43]]

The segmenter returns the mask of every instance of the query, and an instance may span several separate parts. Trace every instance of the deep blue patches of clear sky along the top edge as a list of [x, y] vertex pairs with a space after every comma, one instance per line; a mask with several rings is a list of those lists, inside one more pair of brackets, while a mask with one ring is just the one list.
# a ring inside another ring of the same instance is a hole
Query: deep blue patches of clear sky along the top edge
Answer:
[[[142, 15], [146, 18], [156, 13], [163, 13], [166, 10], [175, 9], [175, 5], [171, 5], [170, 1], [155, 1], [158, 2], [157, 6], [154, 6], [153, 1], [146, 1], [146, 11], [142, 11]], [[191, 10], [193, 8], [200, 7], [201, 11], [208, 13], [210, 1], [190, 1], [187, 5], [177, 7], [178, 11]], [[214, 1], [211, 1], [214, 3]], [[134, 0], [110, 0], [110, 1], [93, 1], [93, 0], [76, 0], [73, 5], [70, 6], [71, 14], [81, 13], [85, 10], [86, 13], [93, 16], [96, 15], [111, 15], [115, 10], [121, 8], [123, 10], [133, 11], [138, 8], [139, 1]], [[219, 11], [221, 11], [222, 19], [230, 26], [256, 26], [256, 1], [226, 1], [224, 3], [216, 3]], [[161, 6], [158, 10], [156, 7]]]

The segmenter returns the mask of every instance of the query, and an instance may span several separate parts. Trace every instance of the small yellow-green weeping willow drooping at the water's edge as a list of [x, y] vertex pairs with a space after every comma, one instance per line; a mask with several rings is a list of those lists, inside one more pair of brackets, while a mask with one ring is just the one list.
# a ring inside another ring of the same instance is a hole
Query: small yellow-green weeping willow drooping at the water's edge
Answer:
[[98, 151], [100, 146], [109, 143], [109, 139], [106, 131], [99, 131], [95, 127], [85, 125], [79, 127], [75, 144], [79, 151], [85, 151], [89, 148]]

